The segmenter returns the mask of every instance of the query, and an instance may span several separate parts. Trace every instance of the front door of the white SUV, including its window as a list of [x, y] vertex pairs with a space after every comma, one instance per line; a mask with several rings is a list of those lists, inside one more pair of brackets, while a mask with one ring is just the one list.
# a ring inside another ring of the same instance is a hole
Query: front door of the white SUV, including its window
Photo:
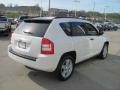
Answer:
[[81, 27], [85, 30], [90, 42], [90, 56], [100, 53], [103, 43], [101, 36], [98, 35], [98, 30], [90, 23], [81, 23]]

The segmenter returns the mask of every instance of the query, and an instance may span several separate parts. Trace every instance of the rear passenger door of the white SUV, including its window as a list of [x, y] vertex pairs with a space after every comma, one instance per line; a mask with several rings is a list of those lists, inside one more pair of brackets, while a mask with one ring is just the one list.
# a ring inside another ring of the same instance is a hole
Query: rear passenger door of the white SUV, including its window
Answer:
[[81, 28], [80, 22], [72, 22], [72, 39], [77, 53], [76, 62], [80, 62], [89, 57], [90, 41], [86, 38], [85, 31]]

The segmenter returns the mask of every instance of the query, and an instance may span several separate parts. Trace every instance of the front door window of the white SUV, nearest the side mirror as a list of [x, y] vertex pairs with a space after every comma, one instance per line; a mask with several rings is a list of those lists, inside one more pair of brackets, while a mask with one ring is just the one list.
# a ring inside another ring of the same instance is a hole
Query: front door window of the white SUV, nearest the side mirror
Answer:
[[81, 24], [81, 27], [85, 30], [85, 33], [87, 35], [94, 36], [98, 34], [96, 28], [93, 25], [88, 23], [80, 23], [80, 24]]

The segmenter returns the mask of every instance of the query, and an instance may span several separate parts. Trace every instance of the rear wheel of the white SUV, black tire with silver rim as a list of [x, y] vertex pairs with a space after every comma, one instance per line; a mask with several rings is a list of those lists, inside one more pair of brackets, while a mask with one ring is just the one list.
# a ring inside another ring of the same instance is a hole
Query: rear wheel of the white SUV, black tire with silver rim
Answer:
[[59, 65], [55, 71], [57, 78], [61, 81], [68, 80], [73, 74], [75, 66], [75, 60], [69, 56], [63, 56], [59, 62]]

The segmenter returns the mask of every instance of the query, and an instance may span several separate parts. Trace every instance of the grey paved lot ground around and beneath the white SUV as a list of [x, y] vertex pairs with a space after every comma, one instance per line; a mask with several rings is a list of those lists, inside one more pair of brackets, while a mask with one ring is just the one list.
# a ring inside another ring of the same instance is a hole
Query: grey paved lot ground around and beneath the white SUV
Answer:
[[80, 63], [66, 82], [11, 60], [7, 55], [9, 39], [0, 37], [0, 90], [120, 90], [120, 30], [106, 34], [110, 38], [108, 58]]

